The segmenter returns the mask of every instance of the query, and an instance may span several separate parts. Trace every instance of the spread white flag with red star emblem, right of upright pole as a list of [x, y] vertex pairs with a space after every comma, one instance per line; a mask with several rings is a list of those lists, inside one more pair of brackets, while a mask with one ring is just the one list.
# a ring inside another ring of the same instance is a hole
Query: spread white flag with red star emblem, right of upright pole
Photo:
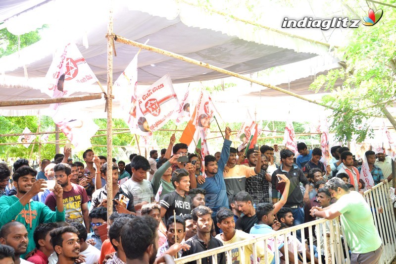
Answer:
[[152, 84], [138, 97], [137, 118], [142, 135], [160, 129], [179, 105], [169, 74]]

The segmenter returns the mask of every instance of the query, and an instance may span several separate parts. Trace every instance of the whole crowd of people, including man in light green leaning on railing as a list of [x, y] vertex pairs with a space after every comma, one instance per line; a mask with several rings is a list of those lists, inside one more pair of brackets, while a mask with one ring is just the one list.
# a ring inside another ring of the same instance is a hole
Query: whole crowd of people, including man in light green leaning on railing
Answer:
[[[203, 159], [200, 150], [172, 135], [167, 149], [147, 159], [130, 155], [130, 163], [107, 160], [88, 149], [73, 160], [71, 150], [43, 159], [40, 171], [27, 159], [0, 163], [0, 262], [35, 264], [174, 263], [189, 256], [254, 236], [274, 233], [317, 218], [341, 215], [351, 263], [378, 263], [382, 243], [362, 192], [361, 165], [347, 147], [331, 148], [325, 166], [319, 148], [297, 144], [299, 155], [263, 145], [231, 147], [225, 130], [220, 152]], [[392, 180], [392, 159], [365, 153], [375, 184]], [[111, 166], [112, 181], [107, 182]], [[204, 170], [201, 170], [204, 166]], [[202, 175], [202, 171], [204, 174]], [[111, 185], [112, 197], [107, 197]], [[108, 205], [113, 213], [108, 217]], [[315, 230], [322, 241], [326, 225]], [[321, 243], [322, 243], [321, 242]], [[294, 248], [308, 260], [325, 261], [322, 250], [311, 259], [306, 241], [268, 240], [256, 244], [260, 263], [285, 255], [294, 263]], [[279, 254], [276, 254], [279, 251]], [[251, 245], [232, 251], [232, 263], [250, 263]], [[217, 254], [225, 264], [226, 255]], [[211, 264], [211, 258], [201, 260]], [[192, 262], [195, 263], [195, 262]], [[298, 261], [300, 263], [300, 260]]]

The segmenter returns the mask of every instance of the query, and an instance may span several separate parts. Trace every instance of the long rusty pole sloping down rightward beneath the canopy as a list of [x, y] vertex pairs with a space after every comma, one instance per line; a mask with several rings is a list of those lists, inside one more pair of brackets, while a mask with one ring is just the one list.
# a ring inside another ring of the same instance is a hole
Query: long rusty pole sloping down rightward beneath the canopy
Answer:
[[252, 78], [243, 76], [241, 74], [238, 74], [238, 73], [235, 73], [235, 72], [232, 72], [232, 71], [220, 68], [220, 67], [216, 67], [216, 66], [210, 65], [210, 64], [205, 63], [205, 62], [198, 61], [196, 59], [192, 59], [192, 58], [189, 58], [189, 57], [177, 54], [177, 53], [168, 52], [168, 51], [165, 51], [165, 50], [162, 50], [162, 49], [158, 49], [158, 48], [155, 48], [155, 47], [152, 47], [152, 46], [149, 46], [149, 45], [145, 45], [145, 44], [142, 44], [142, 43], [139, 43], [139, 42], [136, 42], [136, 41], [128, 40], [128, 39], [126, 39], [124, 37], [121, 37], [121, 36], [118, 36], [118, 35], [115, 35], [115, 34], [113, 34], [112, 36], [114, 37], [114, 40], [119, 42], [119, 43], [128, 44], [128, 45], [135, 46], [135, 47], [138, 47], [138, 48], [141, 48], [141, 49], [145, 49], [145, 50], [148, 50], [148, 51], [151, 51], [151, 52], [155, 52], [155, 53], [159, 53], [159, 54], [166, 55], [166, 56], [169, 56], [169, 57], [177, 58], [177, 59], [180, 59], [180, 60], [195, 64], [195, 65], [198, 65], [198, 66], [210, 69], [210, 70], [214, 70], [214, 71], [217, 71], [217, 72], [220, 72], [220, 73], [223, 73], [223, 74], [227, 74], [227, 75], [230, 75], [230, 76], [237, 77], [237, 78], [242, 79], [242, 80], [246, 80], [248, 82], [252, 82], [252, 83], [261, 85], [263, 87], [270, 88], [272, 90], [275, 90], [275, 91], [278, 91], [278, 92], [281, 92], [281, 93], [296, 97], [298, 99], [304, 100], [306, 102], [309, 102], [309, 103], [312, 103], [312, 104], [315, 104], [315, 105], [318, 105], [318, 106], [323, 106], [323, 107], [330, 108], [330, 109], [333, 109], [333, 110], [335, 109], [332, 106], [327, 106], [326, 104], [317, 102], [316, 100], [311, 100], [311, 99], [302, 97], [300, 95], [297, 95], [296, 93], [293, 93], [293, 92], [290, 92], [288, 90], [279, 88], [277, 86], [274, 86], [274, 85], [271, 85], [271, 84], [266, 84], [266, 83], [254, 80]]

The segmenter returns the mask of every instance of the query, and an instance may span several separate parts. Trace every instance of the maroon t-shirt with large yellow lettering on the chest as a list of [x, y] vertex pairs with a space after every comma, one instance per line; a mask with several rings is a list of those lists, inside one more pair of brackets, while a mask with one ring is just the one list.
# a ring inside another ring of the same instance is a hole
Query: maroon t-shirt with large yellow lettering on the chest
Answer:
[[[83, 223], [81, 205], [89, 201], [87, 191], [80, 185], [70, 184], [73, 188], [68, 192], [63, 191], [63, 206], [66, 210], [65, 220]], [[47, 196], [45, 204], [52, 211], [55, 211], [56, 197], [52, 192]]]

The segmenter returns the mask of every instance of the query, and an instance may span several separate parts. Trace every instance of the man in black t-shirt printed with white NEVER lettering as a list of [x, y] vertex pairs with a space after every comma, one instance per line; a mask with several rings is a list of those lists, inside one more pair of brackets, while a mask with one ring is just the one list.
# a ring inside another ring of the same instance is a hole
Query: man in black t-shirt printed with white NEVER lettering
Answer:
[[165, 217], [165, 222], [173, 215], [183, 216], [191, 213], [192, 199], [186, 195], [190, 190], [190, 173], [186, 169], [176, 169], [172, 173], [172, 184], [175, 191], [165, 194], [159, 202], [161, 206], [161, 218]]

